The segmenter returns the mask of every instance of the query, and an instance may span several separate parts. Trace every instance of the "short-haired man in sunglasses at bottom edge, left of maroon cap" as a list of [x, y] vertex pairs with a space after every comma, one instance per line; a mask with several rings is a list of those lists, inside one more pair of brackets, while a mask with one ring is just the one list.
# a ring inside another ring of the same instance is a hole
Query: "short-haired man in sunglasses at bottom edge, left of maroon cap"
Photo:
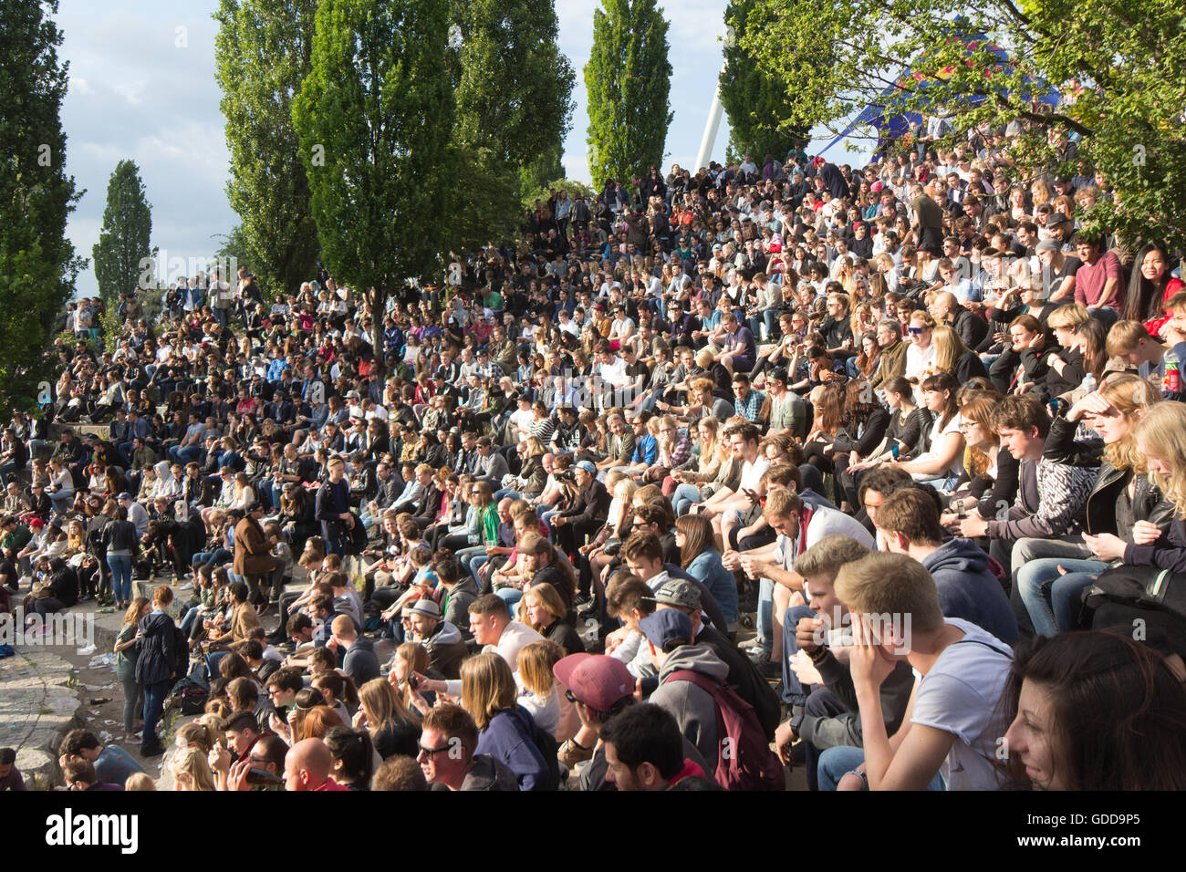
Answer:
[[486, 753], [474, 755], [478, 725], [460, 706], [438, 706], [425, 715], [416, 762], [433, 790], [518, 790], [518, 779]]

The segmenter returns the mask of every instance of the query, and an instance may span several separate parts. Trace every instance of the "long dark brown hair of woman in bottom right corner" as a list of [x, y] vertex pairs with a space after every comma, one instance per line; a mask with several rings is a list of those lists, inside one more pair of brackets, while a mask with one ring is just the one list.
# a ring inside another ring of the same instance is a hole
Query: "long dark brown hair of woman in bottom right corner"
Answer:
[[[1019, 645], [1002, 725], [1016, 718], [1024, 681], [1050, 696], [1053, 766], [1067, 790], [1186, 788], [1186, 688], [1150, 645], [1098, 631]], [[1003, 768], [1025, 779], [1016, 755]]]

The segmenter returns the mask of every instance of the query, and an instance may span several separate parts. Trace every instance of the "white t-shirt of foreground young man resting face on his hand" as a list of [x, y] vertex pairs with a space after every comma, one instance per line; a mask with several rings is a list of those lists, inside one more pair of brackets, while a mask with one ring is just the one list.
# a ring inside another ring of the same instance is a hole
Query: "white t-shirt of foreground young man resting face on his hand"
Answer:
[[997, 723], [996, 707], [1013, 650], [967, 620], [946, 618], [946, 623], [965, 635], [943, 649], [918, 683], [910, 723], [956, 737], [939, 768], [948, 790], [995, 790], [1000, 781], [993, 762], [1008, 727]]

